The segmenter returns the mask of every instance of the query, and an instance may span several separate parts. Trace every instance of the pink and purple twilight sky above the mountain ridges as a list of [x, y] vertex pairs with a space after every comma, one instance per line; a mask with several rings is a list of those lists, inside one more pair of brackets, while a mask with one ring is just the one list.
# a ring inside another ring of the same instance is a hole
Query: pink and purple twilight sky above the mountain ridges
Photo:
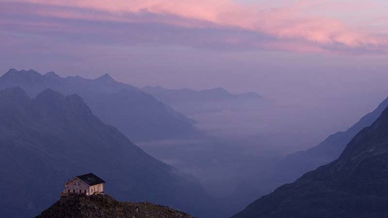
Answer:
[[0, 0], [0, 71], [257, 92], [322, 125], [319, 141], [388, 95], [387, 10], [384, 0]]

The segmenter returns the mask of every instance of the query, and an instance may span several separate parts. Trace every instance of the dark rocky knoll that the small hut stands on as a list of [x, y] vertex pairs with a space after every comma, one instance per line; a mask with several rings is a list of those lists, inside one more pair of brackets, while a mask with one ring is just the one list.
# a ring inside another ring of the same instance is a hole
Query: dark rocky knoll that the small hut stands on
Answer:
[[62, 197], [36, 218], [194, 218], [150, 202], [118, 202], [108, 195]]

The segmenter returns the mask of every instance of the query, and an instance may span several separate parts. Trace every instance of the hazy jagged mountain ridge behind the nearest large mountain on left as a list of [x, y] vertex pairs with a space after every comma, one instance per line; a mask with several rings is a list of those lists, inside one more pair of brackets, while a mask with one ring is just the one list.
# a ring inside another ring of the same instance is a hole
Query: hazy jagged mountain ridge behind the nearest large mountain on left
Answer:
[[134, 141], [181, 138], [194, 134], [194, 120], [157, 101], [140, 89], [105, 74], [96, 79], [61, 78], [54, 72], [9, 70], [0, 89], [20, 86], [30, 97], [50, 88], [62, 94], [79, 94], [101, 120], [120, 129]]

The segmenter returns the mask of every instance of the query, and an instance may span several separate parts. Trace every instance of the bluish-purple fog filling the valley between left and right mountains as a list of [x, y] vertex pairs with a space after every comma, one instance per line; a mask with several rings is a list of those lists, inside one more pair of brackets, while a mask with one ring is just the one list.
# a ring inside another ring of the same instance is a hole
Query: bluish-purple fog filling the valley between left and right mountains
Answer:
[[360, 106], [349, 115], [344, 113], [342, 120], [338, 119], [339, 112], [328, 107], [269, 99], [240, 105], [173, 104], [174, 109], [198, 122], [195, 126], [203, 135], [138, 145], [163, 162], [194, 175], [224, 205], [229, 203], [225, 201], [239, 199], [240, 204], [234, 206], [242, 209], [239, 207], [280, 185], [268, 177], [281, 157], [313, 147], [327, 136], [346, 130], [378, 103]]

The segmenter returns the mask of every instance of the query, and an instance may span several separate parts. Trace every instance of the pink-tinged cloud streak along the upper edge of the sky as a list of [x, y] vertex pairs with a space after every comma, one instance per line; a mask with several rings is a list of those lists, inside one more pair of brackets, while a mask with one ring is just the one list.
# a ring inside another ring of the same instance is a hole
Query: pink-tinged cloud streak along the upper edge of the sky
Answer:
[[[365, 16], [357, 26], [351, 17], [361, 8], [379, 7], [355, 1], [284, 1], [252, 4], [232, 0], [15, 0], [30, 5], [41, 17], [113, 23], [171, 25], [203, 33], [220, 31], [216, 40], [198, 35], [205, 44], [224, 47], [291, 50], [297, 52], [387, 52], [387, 33], [371, 28], [378, 17]], [[316, 12], [316, 15], [314, 15]], [[336, 16], [330, 16], [335, 14]], [[361, 14], [361, 13], [360, 13]], [[378, 16], [378, 15], [376, 15]], [[368, 21], [371, 20], [369, 23]], [[73, 24], [76, 26], [76, 24]], [[112, 31], [112, 30], [111, 30]], [[241, 35], [228, 33], [242, 32]], [[245, 37], [246, 34], [257, 39]], [[149, 33], [152, 34], [152, 33]], [[263, 37], [265, 35], [266, 37]], [[268, 41], [268, 39], [271, 39]], [[179, 40], [178, 40], [179, 41]], [[185, 40], [181, 40], [185, 41]], [[185, 42], [182, 44], [190, 44]], [[195, 44], [195, 43], [194, 43]], [[191, 45], [193, 46], [193, 45]], [[195, 45], [194, 45], [195, 46]]]

